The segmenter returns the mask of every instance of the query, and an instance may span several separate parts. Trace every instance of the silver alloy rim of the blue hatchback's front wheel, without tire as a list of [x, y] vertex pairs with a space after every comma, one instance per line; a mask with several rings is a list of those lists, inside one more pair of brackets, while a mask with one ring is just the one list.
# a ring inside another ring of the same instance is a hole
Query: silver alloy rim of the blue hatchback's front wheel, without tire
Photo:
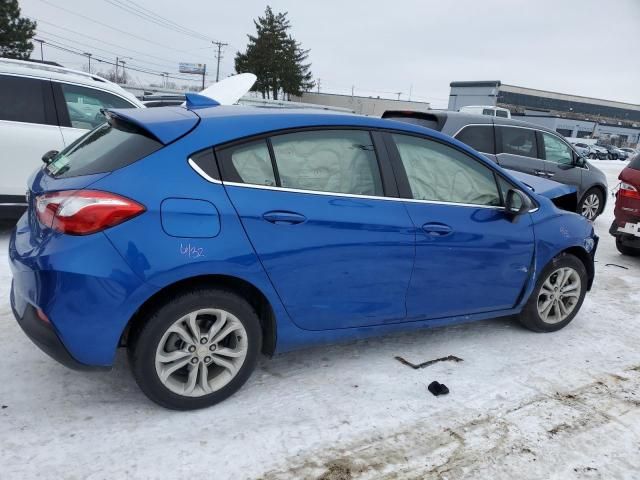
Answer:
[[538, 293], [538, 314], [545, 323], [560, 323], [569, 317], [582, 292], [580, 275], [571, 267], [551, 273]]

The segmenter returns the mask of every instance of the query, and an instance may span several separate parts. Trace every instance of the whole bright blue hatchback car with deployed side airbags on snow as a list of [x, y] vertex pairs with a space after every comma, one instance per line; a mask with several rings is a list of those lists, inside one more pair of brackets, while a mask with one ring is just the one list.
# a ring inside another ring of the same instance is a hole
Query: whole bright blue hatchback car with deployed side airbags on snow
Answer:
[[64, 365], [123, 346], [149, 398], [201, 408], [260, 353], [512, 315], [554, 331], [591, 287], [592, 225], [448, 136], [189, 100], [109, 111], [30, 180], [11, 304]]

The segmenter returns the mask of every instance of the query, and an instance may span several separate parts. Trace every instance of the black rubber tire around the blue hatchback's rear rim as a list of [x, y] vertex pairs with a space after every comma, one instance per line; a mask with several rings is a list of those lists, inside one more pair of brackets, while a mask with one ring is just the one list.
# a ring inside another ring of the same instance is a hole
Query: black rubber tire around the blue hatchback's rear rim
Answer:
[[[160, 380], [155, 364], [156, 350], [176, 320], [206, 308], [225, 310], [240, 321], [247, 333], [246, 357], [235, 376], [219, 390], [197, 397], [179, 395]], [[127, 346], [133, 376], [149, 399], [173, 410], [209, 407], [234, 394], [251, 376], [262, 348], [262, 331], [255, 310], [242, 297], [223, 289], [201, 288], [171, 296], [139, 325], [131, 332]]]

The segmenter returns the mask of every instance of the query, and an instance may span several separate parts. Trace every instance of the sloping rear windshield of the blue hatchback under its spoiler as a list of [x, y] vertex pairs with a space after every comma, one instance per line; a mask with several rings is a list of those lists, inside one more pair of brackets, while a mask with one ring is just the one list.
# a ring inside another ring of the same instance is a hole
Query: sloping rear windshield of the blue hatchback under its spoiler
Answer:
[[56, 178], [112, 172], [161, 148], [144, 130], [112, 119], [62, 150], [46, 171]]

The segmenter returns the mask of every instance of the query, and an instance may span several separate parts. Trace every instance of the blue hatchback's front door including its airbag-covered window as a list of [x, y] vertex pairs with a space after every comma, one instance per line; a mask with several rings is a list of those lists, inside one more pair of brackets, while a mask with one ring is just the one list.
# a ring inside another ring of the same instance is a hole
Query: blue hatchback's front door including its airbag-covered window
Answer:
[[453, 145], [395, 133], [386, 140], [416, 228], [408, 318], [513, 307], [529, 276], [534, 235], [529, 215], [512, 222], [502, 206], [508, 181]]

